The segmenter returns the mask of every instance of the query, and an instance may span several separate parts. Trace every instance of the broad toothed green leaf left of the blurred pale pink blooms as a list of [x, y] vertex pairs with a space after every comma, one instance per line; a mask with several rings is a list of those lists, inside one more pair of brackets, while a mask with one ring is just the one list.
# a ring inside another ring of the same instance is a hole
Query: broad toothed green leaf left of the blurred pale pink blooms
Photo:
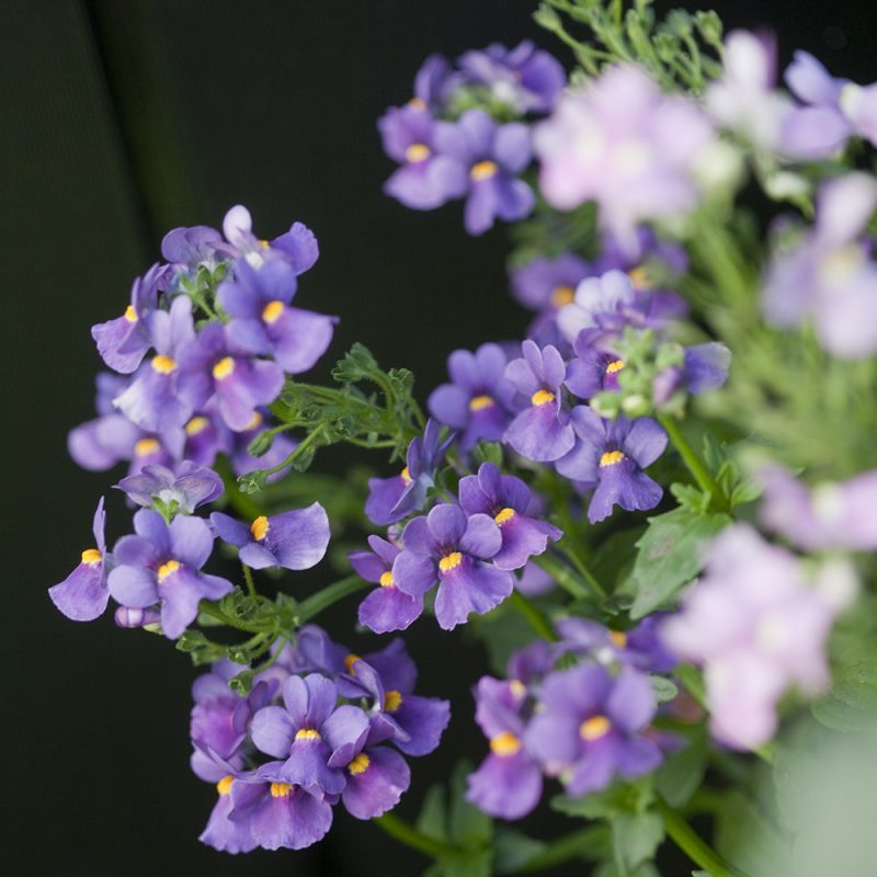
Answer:
[[704, 545], [730, 522], [727, 514], [701, 515], [687, 509], [650, 517], [637, 543], [630, 617], [642, 618], [691, 581], [703, 569]]

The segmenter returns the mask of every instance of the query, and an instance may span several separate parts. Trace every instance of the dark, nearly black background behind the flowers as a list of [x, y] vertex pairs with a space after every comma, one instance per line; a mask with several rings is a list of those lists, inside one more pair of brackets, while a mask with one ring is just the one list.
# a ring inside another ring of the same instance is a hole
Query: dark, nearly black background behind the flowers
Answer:
[[[327, 362], [355, 340], [406, 365], [421, 396], [454, 348], [520, 334], [504, 232], [465, 235], [458, 205], [407, 210], [380, 191], [392, 164], [375, 121], [410, 96], [431, 52], [536, 38], [529, 0], [2, 0], [0, 2], [0, 412], [3, 673], [0, 867], [5, 874], [417, 874], [424, 859], [337, 808], [307, 853], [232, 858], [195, 839], [215, 798], [187, 768], [194, 671], [168, 642], [77, 625], [46, 588], [92, 542], [115, 478], [77, 469], [68, 429], [93, 417], [90, 327], [122, 312], [166, 230], [218, 226], [247, 204], [260, 235], [301, 220], [322, 257], [305, 307], [342, 322]], [[662, 3], [659, 8], [670, 4]], [[696, 8], [688, 4], [690, 9]], [[771, 24], [840, 76], [877, 78], [876, 16], [861, 0], [714, 4], [728, 29]], [[326, 368], [323, 368], [323, 374]], [[110, 540], [126, 528], [118, 500]], [[301, 574], [291, 588], [308, 592]], [[328, 627], [356, 650], [354, 602]], [[423, 693], [452, 697], [442, 749], [412, 761], [413, 818], [431, 779], [480, 759], [469, 686], [478, 648], [422, 622], [407, 637]], [[549, 818], [535, 831], [571, 828]], [[9, 869], [7, 869], [9, 868]], [[571, 873], [581, 873], [577, 867]], [[687, 874], [668, 864], [667, 874]]]

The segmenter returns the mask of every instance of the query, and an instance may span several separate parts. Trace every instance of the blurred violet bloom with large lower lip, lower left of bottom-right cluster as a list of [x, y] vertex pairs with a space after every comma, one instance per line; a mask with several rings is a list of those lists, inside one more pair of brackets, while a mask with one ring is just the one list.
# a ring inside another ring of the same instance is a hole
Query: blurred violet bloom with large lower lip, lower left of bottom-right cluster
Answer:
[[521, 819], [542, 797], [542, 770], [524, 748], [526, 688], [517, 680], [483, 676], [475, 699], [475, 720], [490, 740], [490, 754], [469, 774], [466, 800], [490, 816]]

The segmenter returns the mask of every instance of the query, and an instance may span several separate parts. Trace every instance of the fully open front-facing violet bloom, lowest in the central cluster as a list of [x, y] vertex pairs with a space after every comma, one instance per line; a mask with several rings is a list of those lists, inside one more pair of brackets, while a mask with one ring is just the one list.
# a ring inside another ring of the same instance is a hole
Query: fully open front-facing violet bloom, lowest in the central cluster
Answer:
[[485, 562], [502, 547], [500, 528], [486, 514], [467, 516], [456, 505], [437, 505], [408, 524], [402, 544], [392, 578], [411, 596], [423, 596], [437, 584], [435, 617], [445, 630], [466, 622], [470, 612], [489, 612], [512, 593], [512, 574]]

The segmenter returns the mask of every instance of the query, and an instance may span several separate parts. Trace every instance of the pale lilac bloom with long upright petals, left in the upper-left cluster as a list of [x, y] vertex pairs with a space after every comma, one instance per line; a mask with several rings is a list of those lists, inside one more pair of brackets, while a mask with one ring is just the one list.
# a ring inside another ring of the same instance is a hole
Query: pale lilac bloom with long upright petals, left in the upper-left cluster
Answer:
[[156, 355], [140, 366], [132, 385], [113, 403], [144, 430], [162, 432], [182, 426], [192, 415], [192, 403], [180, 396], [180, 358], [195, 338], [192, 301], [178, 296], [170, 311], [156, 310], [149, 318]]

